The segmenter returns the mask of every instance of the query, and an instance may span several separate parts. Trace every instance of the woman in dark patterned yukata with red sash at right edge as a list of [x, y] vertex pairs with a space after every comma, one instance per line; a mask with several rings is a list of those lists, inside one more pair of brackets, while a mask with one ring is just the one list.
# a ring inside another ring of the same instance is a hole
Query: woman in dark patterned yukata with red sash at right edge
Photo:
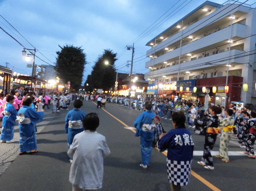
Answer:
[[[255, 159], [254, 154], [254, 143], [255, 143], [255, 137], [256, 137], [256, 113], [255, 111], [252, 111], [250, 114], [251, 120], [248, 121], [248, 128], [249, 128], [249, 134], [248, 134], [248, 140], [246, 142], [246, 151], [244, 154], [247, 154], [250, 159]], [[251, 155], [250, 155], [251, 154]]]

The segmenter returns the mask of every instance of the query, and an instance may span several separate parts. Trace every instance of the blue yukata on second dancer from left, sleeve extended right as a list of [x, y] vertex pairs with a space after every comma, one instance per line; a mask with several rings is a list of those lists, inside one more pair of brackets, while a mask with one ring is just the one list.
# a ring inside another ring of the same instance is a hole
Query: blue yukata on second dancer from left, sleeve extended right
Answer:
[[24, 114], [25, 118], [30, 118], [30, 123], [21, 124], [20, 130], [20, 152], [31, 151], [37, 149], [35, 124], [43, 121], [44, 113], [36, 112], [33, 108], [23, 105], [18, 111]]

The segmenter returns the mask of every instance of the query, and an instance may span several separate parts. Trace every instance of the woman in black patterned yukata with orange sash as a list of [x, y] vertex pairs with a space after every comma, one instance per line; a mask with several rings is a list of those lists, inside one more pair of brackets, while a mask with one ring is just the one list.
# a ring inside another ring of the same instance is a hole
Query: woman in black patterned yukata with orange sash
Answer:
[[218, 126], [220, 126], [220, 120], [217, 114], [221, 113], [221, 108], [213, 105], [209, 108], [209, 112], [212, 117], [208, 118], [206, 121], [207, 129], [205, 134], [203, 157], [201, 161], [198, 161], [197, 163], [203, 165], [206, 169], [214, 170], [211, 150], [213, 149], [218, 133], [220, 133], [220, 129], [218, 129]]

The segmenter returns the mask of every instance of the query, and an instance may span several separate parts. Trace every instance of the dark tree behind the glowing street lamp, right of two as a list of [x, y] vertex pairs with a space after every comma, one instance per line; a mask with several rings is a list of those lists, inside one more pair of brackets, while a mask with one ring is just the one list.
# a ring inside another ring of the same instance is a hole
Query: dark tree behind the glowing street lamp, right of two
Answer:
[[[94, 66], [92, 66], [92, 73], [87, 76], [84, 84], [87, 91], [92, 91], [94, 88], [108, 91], [114, 86], [116, 81], [116, 57], [117, 53], [110, 49], [104, 49], [103, 53], [98, 56]], [[105, 64], [106, 61], [109, 63], [108, 65]], [[86, 86], [87, 84], [88, 86]]]

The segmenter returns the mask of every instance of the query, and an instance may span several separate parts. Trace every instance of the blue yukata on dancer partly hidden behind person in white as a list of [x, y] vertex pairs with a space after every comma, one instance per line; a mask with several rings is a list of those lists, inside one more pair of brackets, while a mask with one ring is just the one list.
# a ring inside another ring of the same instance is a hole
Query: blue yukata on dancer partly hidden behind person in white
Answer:
[[65, 130], [66, 130], [66, 133], [68, 133], [68, 148], [72, 144], [74, 136], [78, 133], [81, 133], [84, 130], [83, 125], [80, 125], [80, 126], [70, 125], [69, 121], [83, 122], [85, 116], [86, 116], [85, 112], [83, 112], [81, 109], [76, 109], [76, 108], [69, 111], [68, 114], [66, 115]]

